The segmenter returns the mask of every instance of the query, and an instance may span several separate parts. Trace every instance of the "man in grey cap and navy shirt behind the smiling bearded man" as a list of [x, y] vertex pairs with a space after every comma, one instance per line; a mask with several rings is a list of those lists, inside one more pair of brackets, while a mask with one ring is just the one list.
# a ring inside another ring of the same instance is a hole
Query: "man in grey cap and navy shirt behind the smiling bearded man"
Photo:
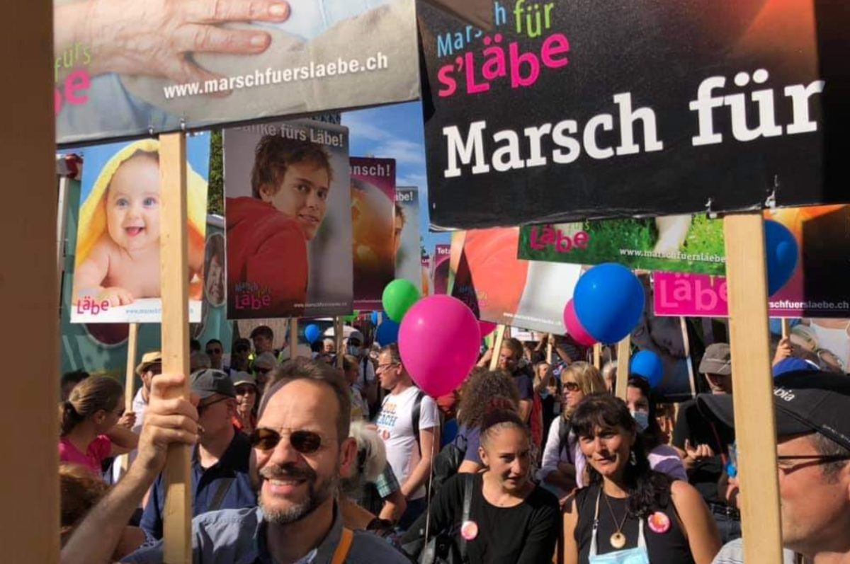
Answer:
[[[241, 509], [257, 505], [251, 483], [251, 444], [233, 426], [236, 392], [230, 376], [221, 370], [202, 369], [190, 376], [197, 396], [200, 440], [192, 454], [192, 515], [219, 509]], [[164, 477], [156, 478], [139, 526], [152, 539], [162, 538], [165, 509]]]

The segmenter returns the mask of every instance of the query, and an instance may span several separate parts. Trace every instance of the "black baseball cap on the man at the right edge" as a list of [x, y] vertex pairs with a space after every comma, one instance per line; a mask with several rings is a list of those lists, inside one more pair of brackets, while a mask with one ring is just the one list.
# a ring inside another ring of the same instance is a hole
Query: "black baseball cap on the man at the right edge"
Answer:
[[[697, 405], [723, 425], [734, 427], [733, 397], [700, 395]], [[776, 434], [819, 432], [850, 448], [850, 377], [796, 370], [774, 378]]]

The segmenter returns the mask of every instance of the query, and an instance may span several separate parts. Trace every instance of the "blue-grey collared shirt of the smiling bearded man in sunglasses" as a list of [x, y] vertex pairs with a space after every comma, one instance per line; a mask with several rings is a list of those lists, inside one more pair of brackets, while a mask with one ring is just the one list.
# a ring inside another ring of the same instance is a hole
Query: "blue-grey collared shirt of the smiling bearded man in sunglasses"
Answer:
[[[259, 508], [212, 511], [192, 520], [193, 564], [274, 564], [266, 547], [263, 511]], [[343, 534], [343, 519], [334, 509], [331, 531], [297, 564], [329, 564]], [[160, 564], [161, 541], [136, 550], [125, 564]], [[364, 531], [354, 532], [347, 564], [410, 564], [386, 541]]]

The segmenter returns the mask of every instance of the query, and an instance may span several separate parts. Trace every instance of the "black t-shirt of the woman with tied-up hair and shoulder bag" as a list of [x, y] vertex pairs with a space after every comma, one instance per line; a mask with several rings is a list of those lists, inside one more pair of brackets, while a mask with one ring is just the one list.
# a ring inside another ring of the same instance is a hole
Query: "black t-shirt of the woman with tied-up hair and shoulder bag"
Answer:
[[[431, 505], [433, 533], [460, 531], [463, 517], [463, 484], [468, 474], [456, 474], [439, 489]], [[540, 564], [552, 561], [561, 511], [558, 499], [542, 488], [534, 488], [523, 503], [515, 507], [490, 505], [482, 488], [484, 478], [473, 475], [473, 497], [469, 520], [478, 524], [478, 536], [467, 541], [469, 564]], [[410, 543], [422, 536], [424, 515], [401, 539]]]

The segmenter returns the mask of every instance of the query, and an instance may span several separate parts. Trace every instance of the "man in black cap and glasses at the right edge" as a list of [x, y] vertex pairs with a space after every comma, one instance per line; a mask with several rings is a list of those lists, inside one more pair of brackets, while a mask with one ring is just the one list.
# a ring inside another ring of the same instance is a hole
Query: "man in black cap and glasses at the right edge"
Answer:
[[[698, 401], [706, 415], [734, 426], [731, 396], [702, 396]], [[774, 406], [783, 545], [810, 564], [848, 562], [850, 378], [810, 370], [779, 375], [774, 379]], [[730, 457], [727, 469], [733, 480], [735, 458]], [[715, 562], [742, 562], [742, 546], [741, 540], [727, 544]]]

